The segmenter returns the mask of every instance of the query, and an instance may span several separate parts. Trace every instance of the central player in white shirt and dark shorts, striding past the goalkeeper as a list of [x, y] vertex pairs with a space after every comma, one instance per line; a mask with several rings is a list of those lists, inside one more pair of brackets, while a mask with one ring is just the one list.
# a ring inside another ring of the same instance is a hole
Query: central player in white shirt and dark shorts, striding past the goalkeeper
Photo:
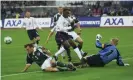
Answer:
[[81, 52], [79, 51], [76, 44], [73, 42], [72, 37], [67, 33], [70, 29], [72, 29], [68, 16], [69, 16], [69, 9], [64, 8], [63, 15], [59, 17], [56, 26], [52, 30], [57, 32], [56, 42], [60, 43], [65, 48], [66, 51], [68, 51], [70, 46], [72, 46], [74, 51], [77, 53], [79, 59], [81, 59], [82, 58]]

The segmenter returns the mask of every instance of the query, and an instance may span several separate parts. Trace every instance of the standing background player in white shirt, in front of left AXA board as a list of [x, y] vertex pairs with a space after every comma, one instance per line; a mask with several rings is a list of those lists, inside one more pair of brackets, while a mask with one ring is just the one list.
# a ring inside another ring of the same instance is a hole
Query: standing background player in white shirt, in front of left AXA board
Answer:
[[36, 28], [41, 29], [41, 27], [37, 25], [35, 18], [31, 17], [30, 15], [31, 14], [29, 11], [25, 13], [23, 27], [26, 27], [29, 39], [35, 44], [35, 46], [37, 46], [37, 44], [39, 44], [40, 41], [40, 36]]

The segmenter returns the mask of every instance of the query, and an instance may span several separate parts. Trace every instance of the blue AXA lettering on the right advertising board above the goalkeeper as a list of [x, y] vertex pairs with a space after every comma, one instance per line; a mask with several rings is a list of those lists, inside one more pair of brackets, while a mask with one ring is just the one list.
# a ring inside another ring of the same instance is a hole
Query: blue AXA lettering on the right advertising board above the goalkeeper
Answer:
[[123, 18], [107, 18], [104, 25], [124, 25]]

